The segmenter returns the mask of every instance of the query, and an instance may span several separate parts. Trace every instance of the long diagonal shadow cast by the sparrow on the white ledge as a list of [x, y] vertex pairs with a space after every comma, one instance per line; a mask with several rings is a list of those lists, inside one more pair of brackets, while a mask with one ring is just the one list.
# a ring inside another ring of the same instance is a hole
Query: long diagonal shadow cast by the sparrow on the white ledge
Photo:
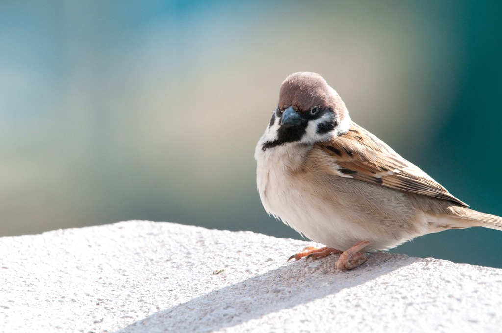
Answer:
[[[393, 263], [395, 260], [400, 263]], [[396, 258], [393, 254], [379, 252], [371, 254], [366, 264], [353, 271], [337, 270], [336, 260], [321, 260], [319, 263], [301, 260], [157, 312], [117, 333], [159, 329], [213, 331], [232, 327], [336, 294], [420, 260], [403, 259], [403, 256]]]

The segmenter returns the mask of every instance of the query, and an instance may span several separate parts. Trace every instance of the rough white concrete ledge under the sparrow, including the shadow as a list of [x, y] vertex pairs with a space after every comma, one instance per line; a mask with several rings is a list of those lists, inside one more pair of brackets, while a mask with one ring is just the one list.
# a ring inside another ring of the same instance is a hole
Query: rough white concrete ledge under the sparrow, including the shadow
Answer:
[[0, 238], [0, 331], [499, 331], [502, 270], [143, 221]]

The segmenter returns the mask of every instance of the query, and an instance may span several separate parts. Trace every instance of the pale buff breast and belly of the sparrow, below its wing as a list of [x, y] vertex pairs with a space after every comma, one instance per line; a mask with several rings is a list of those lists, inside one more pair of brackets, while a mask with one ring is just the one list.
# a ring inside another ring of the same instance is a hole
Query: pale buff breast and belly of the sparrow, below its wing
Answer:
[[362, 241], [374, 249], [416, 236], [409, 197], [381, 186], [342, 178], [321, 167], [311, 150], [257, 150], [257, 182], [267, 212], [309, 239], [339, 250]]

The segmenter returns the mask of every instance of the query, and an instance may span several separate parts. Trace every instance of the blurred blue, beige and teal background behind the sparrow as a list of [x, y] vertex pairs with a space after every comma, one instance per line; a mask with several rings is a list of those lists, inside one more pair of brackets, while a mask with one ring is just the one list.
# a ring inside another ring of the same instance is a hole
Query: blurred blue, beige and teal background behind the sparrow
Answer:
[[[300, 239], [263, 209], [253, 157], [297, 71], [501, 216], [501, 4], [2, 1], [0, 236], [141, 219]], [[502, 232], [393, 251], [502, 267]]]

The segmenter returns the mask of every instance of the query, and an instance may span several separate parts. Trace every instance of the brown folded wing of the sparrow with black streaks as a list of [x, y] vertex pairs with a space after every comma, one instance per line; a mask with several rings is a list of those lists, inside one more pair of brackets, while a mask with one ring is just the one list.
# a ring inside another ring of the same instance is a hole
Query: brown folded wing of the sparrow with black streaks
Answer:
[[319, 142], [317, 147], [335, 159], [339, 167], [335, 174], [338, 176], [468, 207], [415, 164], [355, 123], [352, 123], [347, 133], [327, 142]]

